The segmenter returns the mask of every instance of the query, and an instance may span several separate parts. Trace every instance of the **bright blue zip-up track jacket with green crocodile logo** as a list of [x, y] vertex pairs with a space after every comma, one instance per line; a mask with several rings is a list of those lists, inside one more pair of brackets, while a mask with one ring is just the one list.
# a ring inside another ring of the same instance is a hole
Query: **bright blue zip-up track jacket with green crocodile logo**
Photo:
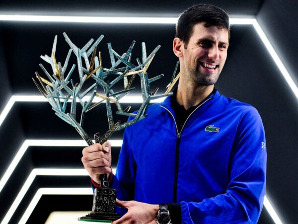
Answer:
[[127, 127], [111, 188], [120, 200], [180, 203], [184, 224], [255, 224], [265, 196], [259, 113], [215, 91], [177, 132], [170, 97]]

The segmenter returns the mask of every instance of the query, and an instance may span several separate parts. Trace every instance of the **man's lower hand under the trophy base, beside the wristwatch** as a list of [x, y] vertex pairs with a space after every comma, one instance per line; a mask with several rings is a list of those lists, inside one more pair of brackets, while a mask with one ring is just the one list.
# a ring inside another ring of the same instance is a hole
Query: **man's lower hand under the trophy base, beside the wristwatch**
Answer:
[[136, 201], [120, 201], [116, 200], [119, 207], [128, 209], [128, 212], [119, 220], [112, 224], [156, 224], [159, 205], [150, 205]]

